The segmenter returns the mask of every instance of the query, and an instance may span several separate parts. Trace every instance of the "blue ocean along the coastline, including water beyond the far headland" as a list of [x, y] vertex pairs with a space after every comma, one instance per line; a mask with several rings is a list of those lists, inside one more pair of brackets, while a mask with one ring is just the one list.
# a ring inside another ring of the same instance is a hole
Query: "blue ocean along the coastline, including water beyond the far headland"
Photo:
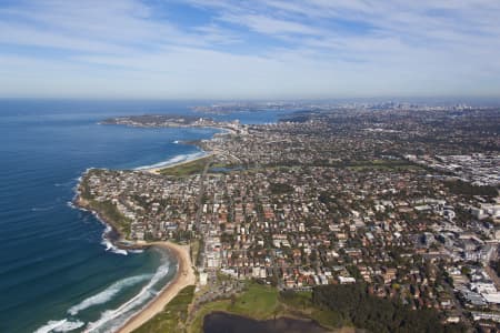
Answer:
[[[197, 103], [0, 100], [0, 332], [112, 332], [176, 273], [161, 250], [123, 253], [106, 226], [71, 206], [88, 168], [136, 169], [199, 154], [179, 141], [216, 129], [100, 125], [109, 117], [196, 114]], [[277, 120], [277, 112], [218, 119]], [[209, 115], [210, 117], [210, 115]]]

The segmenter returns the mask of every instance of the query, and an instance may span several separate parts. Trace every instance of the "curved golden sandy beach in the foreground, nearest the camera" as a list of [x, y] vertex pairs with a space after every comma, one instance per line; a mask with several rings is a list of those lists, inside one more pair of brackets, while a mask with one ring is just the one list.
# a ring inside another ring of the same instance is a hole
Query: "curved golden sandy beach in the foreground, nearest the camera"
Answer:
[[189, 245], [178, 245], [171, 242], [153, 242], [149, 245], [161, 246], [173, 252], [179, 261], [176, 278], [152, 300], [141, 312], [129, 319], [117, 332], [128, 333], [152, 319], [186, 286], [196, 284], [196, 275], [191, 264]]

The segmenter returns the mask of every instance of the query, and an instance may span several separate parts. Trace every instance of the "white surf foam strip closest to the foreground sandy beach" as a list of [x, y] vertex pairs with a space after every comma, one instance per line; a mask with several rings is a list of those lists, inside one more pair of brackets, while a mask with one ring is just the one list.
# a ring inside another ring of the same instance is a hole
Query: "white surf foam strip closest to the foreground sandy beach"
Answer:
[[153, 286], [169, 273], [169, 262], [160, 265], [149, 283], [144, 285], [136, 296], [121, 304], [118, 309], [102, 312], [101, 317], [98, 321], [89, 323], [86, 332], [97, 332], [100, 327], [102, 327], [102, 325], [108, 323], [110, 323], [111, 326], [104, 332], [113, 332], [116, 329], [123, 324], [123, 321], [120, 320], [118, 323], [112, 323], [112, 321], [119, 319], [121, 315], [124, 315], [128, 312], [136, 311], [136, 307], [143, 304], [149, 297], [156, 295], [158, 292], [153, 290]]

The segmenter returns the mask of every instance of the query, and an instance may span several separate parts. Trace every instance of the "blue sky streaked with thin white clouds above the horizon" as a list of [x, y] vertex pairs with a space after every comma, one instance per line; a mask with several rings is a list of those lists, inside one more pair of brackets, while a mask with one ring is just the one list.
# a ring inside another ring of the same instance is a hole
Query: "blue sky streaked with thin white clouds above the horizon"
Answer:
[[0, 0], [0, 97], [500, 97], [497, 0]]

